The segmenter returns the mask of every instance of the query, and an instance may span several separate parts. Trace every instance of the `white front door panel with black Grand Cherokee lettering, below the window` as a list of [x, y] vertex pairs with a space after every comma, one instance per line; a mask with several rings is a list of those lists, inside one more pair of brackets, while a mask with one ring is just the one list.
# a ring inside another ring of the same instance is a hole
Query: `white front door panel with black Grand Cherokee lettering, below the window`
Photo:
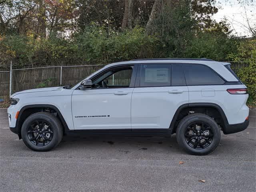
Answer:
[[[130, 129], [133, 89], [106, 88], [74, 90], [72, 95], [74, 128], [77, 130]], [[76, 116], [86, 117], [76, 118]]]

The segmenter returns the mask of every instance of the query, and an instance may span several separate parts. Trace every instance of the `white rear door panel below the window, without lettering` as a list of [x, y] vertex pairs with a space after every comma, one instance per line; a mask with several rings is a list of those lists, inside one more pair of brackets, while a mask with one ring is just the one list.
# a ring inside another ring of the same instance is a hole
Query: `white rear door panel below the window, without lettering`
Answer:
[[185, 103], [187, 86], [134, 88], [132, 128], [169, 128], [176, 110]]

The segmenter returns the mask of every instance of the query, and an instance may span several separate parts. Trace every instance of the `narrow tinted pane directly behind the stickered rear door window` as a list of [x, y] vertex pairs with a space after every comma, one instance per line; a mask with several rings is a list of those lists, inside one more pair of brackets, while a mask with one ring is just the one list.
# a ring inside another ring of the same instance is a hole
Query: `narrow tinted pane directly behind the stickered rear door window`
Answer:
[[186, 85], [181, 64], [172, 64], [172, 86]]

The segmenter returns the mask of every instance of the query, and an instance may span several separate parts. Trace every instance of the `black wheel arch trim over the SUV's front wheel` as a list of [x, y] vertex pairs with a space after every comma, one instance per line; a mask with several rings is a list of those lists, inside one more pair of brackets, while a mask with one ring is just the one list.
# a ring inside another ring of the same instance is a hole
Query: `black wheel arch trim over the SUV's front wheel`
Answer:
[[60, 110], [56, 106], [50, 105], [50, 104], [33, 104], [33, 105], [23, 106], [19, 112], [18, 118], [16, 120], [16, 128], [18, 130], [19, 139], [22, 138], [20, 130], [21, 130], [24, 120], [31, 114], [33, 114], [35, 112], [42, 112], [44, 109], [54, 110], [57, 113], [57, 118], [60, 119], [60, 122], [63, 127], [63, 133], [66, 134], [67, 130], [69, 130], [68, 125], [66, 124], [66, 121], [65, 121], [64, 117], [62, 116]]

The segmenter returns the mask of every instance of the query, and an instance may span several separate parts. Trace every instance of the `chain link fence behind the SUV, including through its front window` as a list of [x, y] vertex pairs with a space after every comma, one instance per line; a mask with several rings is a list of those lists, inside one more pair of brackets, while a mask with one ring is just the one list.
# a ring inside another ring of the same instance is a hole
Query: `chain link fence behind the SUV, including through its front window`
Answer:
[[[231, 68], [237, 72], [240, 68], [248, 66], [245, 62], [230, 62]], [[0, 98], [7, 100], [10, 93], [43, 87], [74, 85], [96, 72], [104, 65], [70, 65], [70, 66], [45, 66], [36, 68], [12, 69], [0, 68]], [[11, 71], [11, 74], [10, 74]], [[108, 84], [129, 84], [129, 73], [116, 74], [108, 78]], [[11, 77], [11, 78], [10, 78]], [[11, 81], [10, 81], [11, 80]], [[124, 82], [125, 81], [125, 82]], [[11, 90], [11, 91], [10, 91]]]

